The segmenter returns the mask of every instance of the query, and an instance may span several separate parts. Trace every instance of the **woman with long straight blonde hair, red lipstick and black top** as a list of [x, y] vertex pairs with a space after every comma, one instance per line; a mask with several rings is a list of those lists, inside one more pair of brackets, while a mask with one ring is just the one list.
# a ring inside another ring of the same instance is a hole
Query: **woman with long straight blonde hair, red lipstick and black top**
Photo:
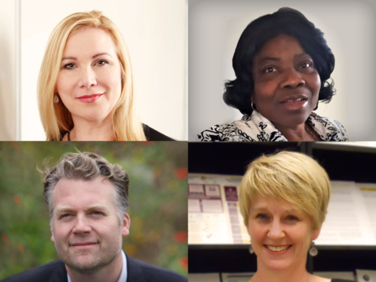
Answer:
[[127, 46], [99, 11], [71, 14], [53, 30], [38, 103], [48, 141], [172, 140], [138, 120]]

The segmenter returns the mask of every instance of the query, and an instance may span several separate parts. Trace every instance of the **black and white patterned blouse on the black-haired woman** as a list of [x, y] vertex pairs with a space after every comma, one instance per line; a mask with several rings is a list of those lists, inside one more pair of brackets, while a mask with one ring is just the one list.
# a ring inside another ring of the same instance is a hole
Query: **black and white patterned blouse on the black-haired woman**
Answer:
[[[312, 112], [308, 124], [322, 141], [349, 141], [346, 129], [338, 121]], [[243, 115], [230, 124], [217, 124], [197, 134], [198, 141], [288, 141], [278, 129], [259, 112]]]

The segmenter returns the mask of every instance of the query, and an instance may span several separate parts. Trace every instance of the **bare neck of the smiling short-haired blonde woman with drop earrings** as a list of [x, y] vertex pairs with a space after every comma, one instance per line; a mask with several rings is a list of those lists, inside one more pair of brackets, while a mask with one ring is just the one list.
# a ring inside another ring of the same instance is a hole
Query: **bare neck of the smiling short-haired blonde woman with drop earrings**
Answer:
[[256, 274], [252, 277], [252, 282], [307, 282], [311, 275], [306, 271], [305, 265], [298, 264], [294, 268], [286, 270], [271, 270], [267, 267], [262, 267], [257, 263]]

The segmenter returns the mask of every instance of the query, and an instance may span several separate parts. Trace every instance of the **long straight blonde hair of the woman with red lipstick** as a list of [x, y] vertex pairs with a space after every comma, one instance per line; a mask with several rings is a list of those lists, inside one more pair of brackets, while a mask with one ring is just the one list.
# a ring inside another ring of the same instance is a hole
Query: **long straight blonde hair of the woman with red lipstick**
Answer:
[[138, 120], [133, 97], [132, 65], [128, 48], [114, 23], [102, 12], [80, 12], [64, 18], [52, 31], [47, 43], [38, 79], [38, 106], [47, 141], [58, 141], [61, 133], [70, 131], [74, 124], [71, 113], [61, 102], [53, 103], [56, 93], [56, 81], [65, 44], [70, 35], [87, 27], [105, 30], [114, 41], [116, 53], [121, 65], [121, 94], [112, 109], [112, 129], [115, 140], [146, 140], [143, 125]]

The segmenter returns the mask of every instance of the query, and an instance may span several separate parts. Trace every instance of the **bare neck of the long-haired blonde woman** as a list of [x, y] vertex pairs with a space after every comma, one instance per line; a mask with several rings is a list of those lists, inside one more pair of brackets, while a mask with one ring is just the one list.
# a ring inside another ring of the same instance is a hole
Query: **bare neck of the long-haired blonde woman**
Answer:
[[73, 118], [74, 127], [70, 131], [71, 141], [113, 141], [111, 117], [101, 121], [87, 121]]

